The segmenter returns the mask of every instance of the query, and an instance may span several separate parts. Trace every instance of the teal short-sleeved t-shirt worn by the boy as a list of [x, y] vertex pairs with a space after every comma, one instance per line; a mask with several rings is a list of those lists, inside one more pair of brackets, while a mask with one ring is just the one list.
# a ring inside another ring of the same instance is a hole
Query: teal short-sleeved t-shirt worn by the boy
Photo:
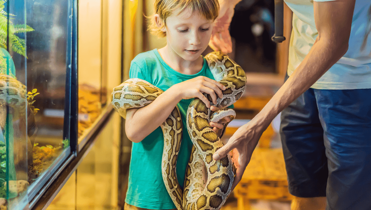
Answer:
[[[181, 74], [162, 60], [157, 49], [138, 54], [131, 62], [130, 78], [144, 79], [166, 91], [171, 86], [204, 76], [214, 79], [206, 59], [200, 72], [194, 75]], [[184, 184], [185, 168], [193, 143], [188, 135], [185, 115], [193, 99], [183, 99], [178, 103], [182, 116], [183, 139], [177, 160], [177, 177], [181, 187]], [[233, 105], [230, 106], [233, 108]], [[160, 127], [139, 143], [132, 143], [129, 166], [129, 183], [125, 202], [145, 209], [175, 209], [161, 175], [161, 159], [164, 149], [164, 136]]]

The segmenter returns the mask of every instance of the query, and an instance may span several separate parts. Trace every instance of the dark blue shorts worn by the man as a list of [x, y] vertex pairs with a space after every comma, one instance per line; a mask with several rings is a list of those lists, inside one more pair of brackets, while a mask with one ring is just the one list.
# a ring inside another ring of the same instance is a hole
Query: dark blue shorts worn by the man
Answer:
[[309, 88], [282, 111], [280, 135], [292, 195], [371, 209], [371, 89]]

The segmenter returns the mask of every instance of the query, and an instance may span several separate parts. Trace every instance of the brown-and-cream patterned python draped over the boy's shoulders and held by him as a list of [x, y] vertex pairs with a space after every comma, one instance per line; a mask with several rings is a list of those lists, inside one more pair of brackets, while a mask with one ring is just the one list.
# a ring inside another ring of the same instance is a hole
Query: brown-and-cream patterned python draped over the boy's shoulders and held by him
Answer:
[[[213, 104], [209, 94], [204, 96], [210, 106], [227, 107], [236, 102], [246, 88], [246, 75], [243, 69], [220, 51], [210, 52], [204, 57], [214, 79], [226, 87], [223, 98]], [[112, 91], [112, 105], [122, 117], [126, 110], [141, 108], [162, 94], [160, 88], [149, 82], [131, 78], [115, 87]], [[191, 155], [185, 170], [184, 189], [176, 175], [177, 156], [183, 135], [183, 125], [178, 106], [175, 106], [160, 127], [164, 135], [164, 149], [161, 160], [161, 173], [165, 187], [178, 210], [219, 210], [231, 193], [236, 168], [228, 154], [220, 160], [213, 160], [213, 154], [223, 146], [220, 138], [228, 123], [224, 124], [220, 136], [213, 131], [210, 122], [218, 122], [225, 116], [231, 120], [236, 112], [222, 108], [212, 112], [199, 98], [194, 98], [187, 109], [187, 131], [193, 142]]]

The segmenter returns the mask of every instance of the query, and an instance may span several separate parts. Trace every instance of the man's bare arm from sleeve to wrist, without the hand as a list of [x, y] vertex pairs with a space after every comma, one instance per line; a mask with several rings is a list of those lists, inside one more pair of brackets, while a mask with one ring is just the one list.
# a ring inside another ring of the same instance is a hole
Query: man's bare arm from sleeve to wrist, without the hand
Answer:
[[308, 55], [259, 113], [265, 123], [269, 125], [347, 52], [354, 4], [355, 0], [313, 3], [318, 36]]

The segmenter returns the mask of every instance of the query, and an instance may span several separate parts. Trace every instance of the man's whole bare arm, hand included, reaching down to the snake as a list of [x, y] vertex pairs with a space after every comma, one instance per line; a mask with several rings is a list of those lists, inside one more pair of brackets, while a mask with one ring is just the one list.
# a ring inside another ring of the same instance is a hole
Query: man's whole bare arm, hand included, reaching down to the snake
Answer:
[[233, 162], [237, 172], [232, 187], [241, 180], [260, 136], [273, 118], [311, 87], [347, 52], [354, 4], [355, 0], [314, 2], [318, 37], [308, 55], [262, 111], [249, 123], [241, 126], [228, 143], [213, 155], [217, 160], [236, 148], [233, 151]]

